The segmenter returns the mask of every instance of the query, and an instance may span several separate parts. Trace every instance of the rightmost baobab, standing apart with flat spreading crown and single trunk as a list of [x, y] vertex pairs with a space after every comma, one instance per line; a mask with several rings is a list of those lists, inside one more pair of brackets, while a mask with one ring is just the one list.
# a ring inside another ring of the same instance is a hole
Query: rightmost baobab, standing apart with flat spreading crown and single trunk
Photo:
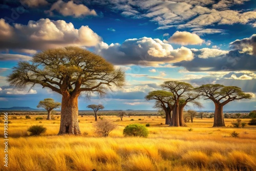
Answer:
[[221, 84], [204, 84], [196, 89], [205, 99], [210, 99], [215, 104], [214, 127], [225, 126], [223, 106], [230, 101], [250, 99], [251, 95], [244, 93], [236, 86], [223, 86]]

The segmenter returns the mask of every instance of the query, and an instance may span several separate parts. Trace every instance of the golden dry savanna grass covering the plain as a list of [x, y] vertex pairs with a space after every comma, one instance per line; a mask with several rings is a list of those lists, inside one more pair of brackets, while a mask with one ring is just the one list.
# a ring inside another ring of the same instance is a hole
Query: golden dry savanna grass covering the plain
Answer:
[[[23, 117], [22, 119], [19, 119]], [[194, 119], [187, 127], [170, 127], [160, 117], [132, 116], [120, 121], [109, 137], [94, 135], [94, 117], [79, 116], [81, 136], [56, 136], [59, 118], [35, 120], [38, 116], [9, 116], [9, 166], [0, 170], [255, 170], [256, 126], [243, 129], [211, 127], [213, 119]], [[46, 116], [44, 116], [46, 118]], [[101, 116], [102, 117], [102, 116]], [[3, 118], [3, 117], [2, 117]], [[2, 119], [1, 118], [1, 119]], [[131, 121], [134, 119], [134, 121]], [[139, 120], [141, 119], [141, 120]], [[249, 119], [242, 119], [243, 122]], [[39, 123], [41, 122], [41, 123]], [[127, 124], [150, 123], [148, 138], [123, 137]], [[38, 137], [28, 136], [31, 125], [47, 127]], [[3, 123], [0, 123], [3, 127]], [[193, 131], [188, 131], [188, 129]], [[236, 131], [238, 138], [230, 133]], [[3, 135], [3, 129], [0, 130]], [[1, 155], [4, 151], [1, 145]], [[1, 156], [3, 159], [3, 155]]]

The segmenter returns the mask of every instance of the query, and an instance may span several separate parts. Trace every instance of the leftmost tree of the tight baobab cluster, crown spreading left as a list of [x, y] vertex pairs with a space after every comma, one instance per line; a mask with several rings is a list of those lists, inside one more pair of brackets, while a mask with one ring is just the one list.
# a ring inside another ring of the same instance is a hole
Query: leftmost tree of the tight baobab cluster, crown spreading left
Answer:
[[146, 96], [146, 100], [157, 100], [156, 101], [156, 108], [161, 108], [165, 112], [165, 124], [170, 124], [171, 122], [171, 117], [170, 113], [172, 112], [172, 97], [173, 94], [170, 92], [162, 91], [162, 90], [157, 90], [157, 91], [152, 91], [149, 92]]

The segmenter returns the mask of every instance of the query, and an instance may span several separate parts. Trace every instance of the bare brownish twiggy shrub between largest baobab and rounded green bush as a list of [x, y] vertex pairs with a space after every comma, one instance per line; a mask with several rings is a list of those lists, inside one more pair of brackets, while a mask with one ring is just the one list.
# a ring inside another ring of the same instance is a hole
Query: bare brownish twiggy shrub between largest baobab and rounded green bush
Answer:
[[94, 124], [95, 133], [102, 137], [108, 137], [109, 133], [116, 129], [116, 127], [117, 124], [113, 123], [113, 121], [108, 118], [100, 119]]

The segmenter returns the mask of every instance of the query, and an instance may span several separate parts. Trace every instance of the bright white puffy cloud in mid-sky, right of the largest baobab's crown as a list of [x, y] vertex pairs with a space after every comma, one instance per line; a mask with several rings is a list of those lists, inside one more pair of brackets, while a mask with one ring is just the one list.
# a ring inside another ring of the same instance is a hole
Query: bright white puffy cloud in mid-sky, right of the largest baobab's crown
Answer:
[[102, 43], [98, 53], [116, 65], [157, 66], [193, 59], [193, 53], [188, 48], [173, 49], [160, 39], [150, 37], [127, 39], [122, 44], [109, 46]]

